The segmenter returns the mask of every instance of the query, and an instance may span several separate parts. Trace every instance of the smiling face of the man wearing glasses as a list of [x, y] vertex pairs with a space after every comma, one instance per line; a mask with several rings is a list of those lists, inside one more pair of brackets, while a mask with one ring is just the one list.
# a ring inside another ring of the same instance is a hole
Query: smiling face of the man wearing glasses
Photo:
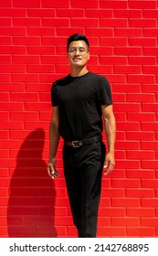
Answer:
[[68, 62], [71, 67], [84, 67], [90, 59], [90, 52], [85, 41], [73, 41], [69, 44], [67, 52]]

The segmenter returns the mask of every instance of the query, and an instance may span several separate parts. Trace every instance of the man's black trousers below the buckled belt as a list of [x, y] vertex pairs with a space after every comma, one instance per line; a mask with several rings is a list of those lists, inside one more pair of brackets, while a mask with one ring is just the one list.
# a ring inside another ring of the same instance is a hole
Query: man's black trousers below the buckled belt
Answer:
[[101, 141], [63, 148], [69, 203], [80, 238], [96, 237], [104, 159], [105, 145]]

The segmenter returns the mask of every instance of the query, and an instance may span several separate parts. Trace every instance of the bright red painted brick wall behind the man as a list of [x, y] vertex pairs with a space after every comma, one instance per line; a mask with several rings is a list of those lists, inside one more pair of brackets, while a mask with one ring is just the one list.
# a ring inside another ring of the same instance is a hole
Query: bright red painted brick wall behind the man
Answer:
[[116, 167], [102, 178], [99, 237], [158, 236], [158, 2], [0, 2], [0, 237], [76, 236], [58, 149], [47, 176], [51, 83], [67, 37], [90, 38], [89, 69], [111, 82]]

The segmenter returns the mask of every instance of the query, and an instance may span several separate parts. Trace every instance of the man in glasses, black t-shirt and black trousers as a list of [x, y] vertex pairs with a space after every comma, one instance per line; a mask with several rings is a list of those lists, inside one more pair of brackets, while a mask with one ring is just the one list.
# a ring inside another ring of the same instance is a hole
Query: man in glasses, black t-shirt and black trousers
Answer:
[[[59, 137], [64, 139], [63, 164], [68, 197], [79, 237], [96, 237], [102, 169], [111, 173], [114, 161], [115, 118], [111, 88], [106, 78], [87, 69], [88, 38], [68, 37], [70, 74], [54, 82], [51, 90], [53, 113], [50, 122], [49, 176], [56, 178]], [[102, 143], [102, 117], [108, 153]]]

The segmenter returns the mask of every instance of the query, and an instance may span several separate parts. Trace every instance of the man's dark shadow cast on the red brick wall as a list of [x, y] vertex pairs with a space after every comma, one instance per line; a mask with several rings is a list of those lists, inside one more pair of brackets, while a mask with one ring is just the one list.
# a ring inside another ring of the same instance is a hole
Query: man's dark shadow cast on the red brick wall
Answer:
[[56, 190], [42, 160], [45, 132], [29, 133], [20, 147], [10, 184], [8, 237], [57, 237], [54, 227]]

